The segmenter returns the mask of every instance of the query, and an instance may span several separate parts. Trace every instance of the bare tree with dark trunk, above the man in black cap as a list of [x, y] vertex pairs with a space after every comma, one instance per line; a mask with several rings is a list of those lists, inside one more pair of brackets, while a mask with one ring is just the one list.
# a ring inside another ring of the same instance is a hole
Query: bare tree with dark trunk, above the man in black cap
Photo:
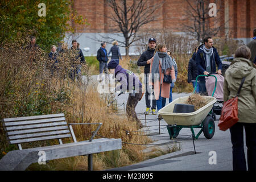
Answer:
[[[147, 23], [154, 22], [159, 19], [157, 10], [162, 7], [164, 1], [148, 1], [148, 0], [106, 0], [105, 6], [111, 8], [110, 14], [104, 16], [114, 22], [114, 26], [109, 29], [110, 32], [121, 32], [117, 34], [124, 38], [117, 40], [119, 46], [125, 47], [126, 55], [129, 55], [131, 44], [137, 42], [141, 38], [137, 36], [138, 30]], [[110, 36], [102, 36], [104, 39], [113, 41]]]

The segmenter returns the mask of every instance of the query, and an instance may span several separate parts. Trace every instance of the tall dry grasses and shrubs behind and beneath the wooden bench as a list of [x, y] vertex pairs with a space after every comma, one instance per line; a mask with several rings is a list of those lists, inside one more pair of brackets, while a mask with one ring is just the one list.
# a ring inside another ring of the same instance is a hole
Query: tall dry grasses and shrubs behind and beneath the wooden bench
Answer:
[[[5, 43], [0, 49], [0, 119], [30, 115], [64, 113], [68, 123], [94, 123], [103, 125], [95, 138], [121, 138], [122, 150], [102, 152], [93, 155], [94, 169], [121, 167], [144, 160], [145, 146], [128, 143], [148, 143], [148, 137], [134, 134], [135, 122], [115, 115], [112, 108], [106, 107], [105, 100], [90, 86], [88, 65], [82, 64], [84, 76], [72, 77], [74, 68], [80, 64], [77, 52], [63, 46], [57, 56], [58, 63], [48, 59], [48, 52], [42, 49], [29, 49], [28, 39], [16, 39]], [[53, 66], [54, 65], [54, 66]], [[88, 140], [96, 125], [74, 125], [78, 141]], [[129, 131], [129, 134], [127, 133]], [[72, 139], [64, 139], [64, 143]], [[58, 144], [57, 140], [22, 144], [23, 148]], [[5, 131], [0, 126], [0, 159], [16, 145], [7, 142]], [[57, 159], [46, 165], [31, 164], [28, 170], [87, 170], [85, 156]]]

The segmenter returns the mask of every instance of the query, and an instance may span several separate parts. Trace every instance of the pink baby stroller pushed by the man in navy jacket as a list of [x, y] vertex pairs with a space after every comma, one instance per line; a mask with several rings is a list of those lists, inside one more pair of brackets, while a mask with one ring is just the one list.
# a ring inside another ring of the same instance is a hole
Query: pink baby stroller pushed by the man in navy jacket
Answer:
[[[213, 97], [217, 99], [217, 102], [215, 102], [212, 107], [212, 117], [214, 121], [216, 121], [216, 115], [221, 114], [221, 109], [224, 103], [224, 76], [218, 75], [217, 73], [210, 73], [210, 75], [214, 75], [217, 78], [216, 90], [213, 94]], [[205, 87], [207, 88], [208, 96], [212, 96], [215, 87], [215, 81], [216, 79], [214, 77], [205, 77]]]

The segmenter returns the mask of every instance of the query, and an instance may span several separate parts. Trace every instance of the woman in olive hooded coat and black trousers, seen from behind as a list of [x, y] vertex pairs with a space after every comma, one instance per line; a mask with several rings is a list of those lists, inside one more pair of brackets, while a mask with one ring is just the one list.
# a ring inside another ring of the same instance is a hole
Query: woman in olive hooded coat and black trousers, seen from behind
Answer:
[[239, 47], [235, 59], [225, 72], [224, 102], [236, 97], [241, 80], [245, 77], [241, 93], [238, 96], [238, 122], [230, 127], [233, 170], [246, 171], [245, 152], [243, 149], [243, 127], [247, 146], [247, 163], [249, 171], [256, 171], [256, 69], [249, 60], [250, 49]]

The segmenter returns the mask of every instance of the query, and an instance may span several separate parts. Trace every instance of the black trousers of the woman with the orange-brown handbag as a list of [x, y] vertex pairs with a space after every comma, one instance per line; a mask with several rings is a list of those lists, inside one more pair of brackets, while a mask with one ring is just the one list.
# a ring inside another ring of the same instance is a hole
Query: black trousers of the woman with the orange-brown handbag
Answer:
[[246, 171], [243, 127], [245, 127], [248, 170], [256, 171], [256, 123], [236, 123], [229, 129], [232, 142], [233, 170]]

